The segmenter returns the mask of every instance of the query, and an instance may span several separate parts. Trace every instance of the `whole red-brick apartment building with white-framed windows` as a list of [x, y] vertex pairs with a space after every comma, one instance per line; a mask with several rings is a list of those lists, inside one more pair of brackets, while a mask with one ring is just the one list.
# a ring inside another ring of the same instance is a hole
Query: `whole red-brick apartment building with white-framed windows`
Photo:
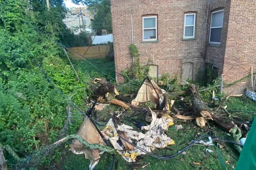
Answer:
[[[110, 0], [116, 72], [131, 66], [129, 45], [152, 76], [195, 80], [207, 63], [224, 83], [256, 68], [255, 0]], [[117, 82], [122, 76], [116, 74]], [[241, 93], [250, 78], [224, 89]]]

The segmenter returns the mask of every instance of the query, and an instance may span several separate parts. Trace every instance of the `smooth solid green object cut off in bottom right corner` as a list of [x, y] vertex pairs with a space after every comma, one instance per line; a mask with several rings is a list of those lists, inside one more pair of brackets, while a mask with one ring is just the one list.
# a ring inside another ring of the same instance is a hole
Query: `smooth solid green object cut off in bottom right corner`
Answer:
[[236, 170], [256, 170], [256, 117], [246, 137]]

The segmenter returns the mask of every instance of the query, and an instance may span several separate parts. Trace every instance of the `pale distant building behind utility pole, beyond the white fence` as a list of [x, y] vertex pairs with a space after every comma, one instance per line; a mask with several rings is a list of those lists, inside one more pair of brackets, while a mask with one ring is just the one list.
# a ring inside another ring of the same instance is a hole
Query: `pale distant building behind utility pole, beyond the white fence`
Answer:
[[85, 6], [78, 8], [72, 7], [63, 22], [74, 34], [79, 34], [82, 31], [92, 33], [91, 19], [92, 15]]

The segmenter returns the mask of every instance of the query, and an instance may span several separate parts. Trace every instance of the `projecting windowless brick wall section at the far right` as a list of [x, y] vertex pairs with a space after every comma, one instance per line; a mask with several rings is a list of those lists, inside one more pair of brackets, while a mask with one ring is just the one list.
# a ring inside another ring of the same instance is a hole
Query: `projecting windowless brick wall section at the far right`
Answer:
[[[232, 83], [256, 72], [256, 1], [232, 0], [228, 21], [228, 36], [224, 59], [224, 83]], [[226, 92], [243, 93], [251, 87], [251, 78], [226, 88]], [[251, 89], [251, 88], [250, 88]]]

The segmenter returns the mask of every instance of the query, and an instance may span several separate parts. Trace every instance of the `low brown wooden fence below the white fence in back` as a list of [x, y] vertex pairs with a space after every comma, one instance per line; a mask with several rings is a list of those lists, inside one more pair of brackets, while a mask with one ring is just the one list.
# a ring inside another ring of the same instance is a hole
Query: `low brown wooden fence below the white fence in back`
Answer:
[[[72, 51], [84, 55], [88, 47], [71, 47], [70, 48]], [[96, 46], [91, 46], [86, 54], [84, 55], [85, 58], [90, 58], [90, 59], [100, 59], [106, 57], [108, 55], [108, 51], [110, 50], [110, 45], [96, 45]], [[80, 60], [81, 57], [78, 55], [69, 52], [70, 56], [72, 56], [72, 59], [74, 60]]]

